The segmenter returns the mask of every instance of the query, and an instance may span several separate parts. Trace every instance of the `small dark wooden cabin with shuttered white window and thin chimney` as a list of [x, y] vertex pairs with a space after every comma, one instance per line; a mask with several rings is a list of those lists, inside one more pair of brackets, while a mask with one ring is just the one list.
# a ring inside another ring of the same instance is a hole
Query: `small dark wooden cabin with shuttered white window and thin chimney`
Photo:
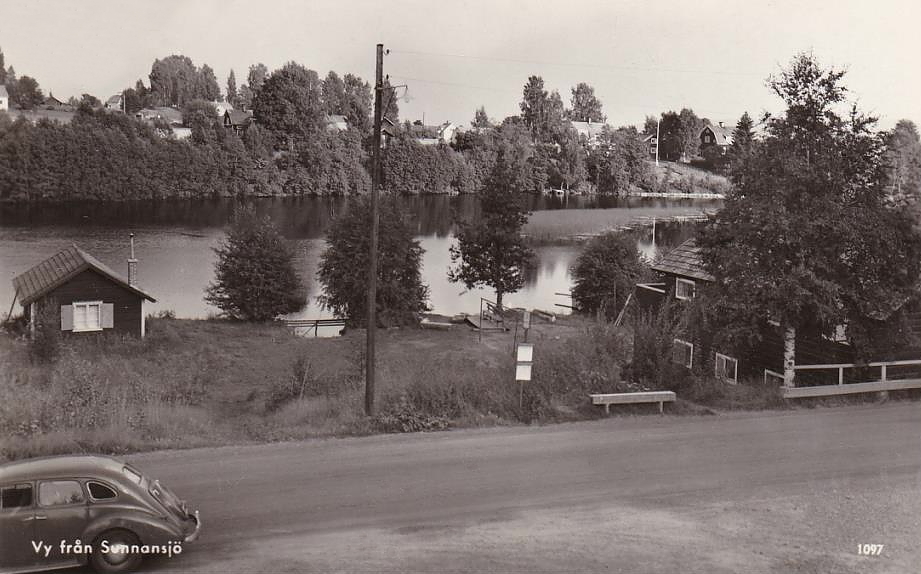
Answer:
[[125, 279], [74, 245], [13, 278], [13, 288], [33, 333], [44, 318], [73, 335], [109, 331], [143, 337], [144, 302], [156, 299], [135, 285], [136, 266], [133, 257], [128, 260]]

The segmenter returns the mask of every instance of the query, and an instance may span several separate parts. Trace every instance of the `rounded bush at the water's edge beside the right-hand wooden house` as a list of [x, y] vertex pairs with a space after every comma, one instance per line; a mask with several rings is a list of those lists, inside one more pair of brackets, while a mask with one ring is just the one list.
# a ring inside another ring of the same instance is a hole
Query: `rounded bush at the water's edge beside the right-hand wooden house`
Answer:
[[572, 268], [573, 301], [583, 313], [613, 319], [645, 271], [630, 237], [614, 232], [599, 235], [585, 246]]

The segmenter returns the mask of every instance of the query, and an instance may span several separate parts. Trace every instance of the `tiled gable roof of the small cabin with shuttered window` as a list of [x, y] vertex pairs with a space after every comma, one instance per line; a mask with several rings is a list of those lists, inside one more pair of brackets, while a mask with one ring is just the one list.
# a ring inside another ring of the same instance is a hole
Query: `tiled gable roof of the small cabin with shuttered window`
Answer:
[[25, 273], [14, 277], [13, 289], [18, 294], [19, 301], [25, 306], [47, 295], [87, 269], [93, 269], [148, 301], [157, 301], [138, 287], [130, 285], [127, 279], [76, 245], [52, 255]]

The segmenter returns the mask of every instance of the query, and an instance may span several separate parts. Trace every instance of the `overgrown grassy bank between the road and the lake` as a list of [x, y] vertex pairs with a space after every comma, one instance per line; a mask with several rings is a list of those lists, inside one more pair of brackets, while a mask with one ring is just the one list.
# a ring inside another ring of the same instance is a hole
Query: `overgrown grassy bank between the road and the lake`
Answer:
[[[535, 319], [534, 379], [523, 389], [514, 333], [478, 339], [463, 326], [381, 331], [378, 413], [366, 417], [363, 331], [315, 339], [274, 325], [154, 319], [142, 341], [71, 340], [42, 364], [25, 340], [0, 335], [0, 459], [580, 420], [602, 416], [589, 393], [640, 390], [621, 376], [631, 351], [622, 329]], [[726, 400], [707, 392], [689, 398]], [[689, 404], [676, 412], [701, 412]]]

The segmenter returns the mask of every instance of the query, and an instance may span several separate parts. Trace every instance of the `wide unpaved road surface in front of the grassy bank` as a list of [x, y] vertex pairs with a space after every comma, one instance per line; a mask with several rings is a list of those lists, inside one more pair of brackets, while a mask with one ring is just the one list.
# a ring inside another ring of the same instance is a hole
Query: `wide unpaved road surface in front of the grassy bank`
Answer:
[[149, 572], [921, 571], [917, 402], [131, 460], [205, 525]]

